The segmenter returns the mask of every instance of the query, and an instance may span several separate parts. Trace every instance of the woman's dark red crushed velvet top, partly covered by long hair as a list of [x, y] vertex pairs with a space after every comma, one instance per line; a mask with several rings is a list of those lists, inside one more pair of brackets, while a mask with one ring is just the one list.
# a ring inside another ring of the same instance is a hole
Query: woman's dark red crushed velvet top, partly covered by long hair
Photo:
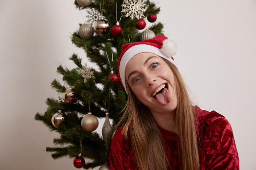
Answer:
[[[231, 125], [215, 111], [197, 109], [201, 169], [239, 169], [239, 158]], [[110, 169], [136, 169], [131, 144], [122, 135], [122, 127], [114, 134], [110, 150]], [[181, 169], [179, 135], [159, 127], [166, 143], [165, 153], [174, 169]]]

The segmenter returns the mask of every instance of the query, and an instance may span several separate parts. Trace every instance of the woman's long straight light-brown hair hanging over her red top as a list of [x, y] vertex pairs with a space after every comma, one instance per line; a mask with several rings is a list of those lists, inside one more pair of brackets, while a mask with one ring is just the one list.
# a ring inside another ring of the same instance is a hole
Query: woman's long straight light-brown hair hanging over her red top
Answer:
[[[196, 114], [178, 69], [169, 61], [163, 60], [175, 76], [178, 99], [175, 123], [179, 130], [182, 169], [198, 170], [200, 163], [195, 126]], [[159, 128], [149, 109], [145, 105], [137, 103], [136, 96], [129, 89], [128, 83], [126, 83], [126, 87], [128, 100], [118, 125], [126, 121], [122, 132], [127, 138], [129, 128], [131, 147], [137, 168], [140, 170], [164, 170], [169, 166], [169, 162], [162, 146], [162, 135]]]

